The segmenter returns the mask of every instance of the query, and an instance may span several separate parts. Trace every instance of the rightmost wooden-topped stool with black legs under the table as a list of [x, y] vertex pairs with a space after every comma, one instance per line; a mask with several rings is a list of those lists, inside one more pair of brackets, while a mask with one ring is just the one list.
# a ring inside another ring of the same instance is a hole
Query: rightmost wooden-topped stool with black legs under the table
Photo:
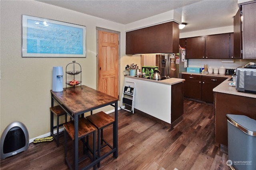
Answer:
[[[104, 113], [103, 111], [87, 116], [86, 119], [92, 122], [92, 124], [98, 129], [98, 156], [97, 157], [100, 158], [100, 149], [106, 146], [113, 149], [113, 147], [107, 141], [104, 140], [103, 129], [108, 125], [113, 124], [115, 119], [110, 115]], [[105, 145], [103, 145], [103, 142], [105, 143]], [[100, 144], [102, 146], [100, 146]], [[100, 167], [100, 162], [98, 162], [98, 167]]]

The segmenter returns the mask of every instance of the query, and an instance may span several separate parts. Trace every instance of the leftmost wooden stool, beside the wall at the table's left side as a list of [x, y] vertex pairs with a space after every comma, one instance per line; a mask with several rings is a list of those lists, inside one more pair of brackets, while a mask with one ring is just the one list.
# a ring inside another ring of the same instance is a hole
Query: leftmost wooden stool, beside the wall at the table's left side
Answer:
[[[65, 123], [67, 123], [67, 113], [58, 105], [54, 107], [50, 107], [50, 112], [51, 112], [51, 135], [52, 137], [56, 140], [57, 147], [59, 147], [59, 128], [64, 124], [61, 123], [59, 124], [59, 117], [62, 115], [65, 115]], [[57, 116], [57, 125], [53, 125], [53, 115]], [[56, 129], [57, 133], [54, 135], [53, 130]]]

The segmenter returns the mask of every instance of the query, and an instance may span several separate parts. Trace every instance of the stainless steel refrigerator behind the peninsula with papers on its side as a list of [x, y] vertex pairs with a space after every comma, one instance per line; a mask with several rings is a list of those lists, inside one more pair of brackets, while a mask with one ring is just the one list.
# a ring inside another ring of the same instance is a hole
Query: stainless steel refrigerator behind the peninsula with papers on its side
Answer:
[[188, 66], [186, 49], [180, 49], [180, 53], [161, 55], [159, 63], [162, 77], [181, 78], [181, 73], [186, 72]]

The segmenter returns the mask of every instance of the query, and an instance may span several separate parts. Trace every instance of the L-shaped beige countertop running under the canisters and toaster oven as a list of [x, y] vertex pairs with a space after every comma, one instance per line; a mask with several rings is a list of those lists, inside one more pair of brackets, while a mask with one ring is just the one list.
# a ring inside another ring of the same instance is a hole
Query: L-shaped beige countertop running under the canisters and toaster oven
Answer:
[[206, 74], [206, 73], [193, 73], [193, 72], [182, 72], [182, 74], [196, 74], [201, 76], [215, 76], [215, 77], [226, 77], [227, 79], [213, 89], [214, 92], [233, 94], [238, 96], [244, 96], [248, 98], [256, 98], [256, 94], [246, 93], [246, 92], [238, 92], [236, 87], [228, 85], [228, 83], [232, 81], [228, 81], [232, 76], [231, 75], [219, 75], [219, 74]]

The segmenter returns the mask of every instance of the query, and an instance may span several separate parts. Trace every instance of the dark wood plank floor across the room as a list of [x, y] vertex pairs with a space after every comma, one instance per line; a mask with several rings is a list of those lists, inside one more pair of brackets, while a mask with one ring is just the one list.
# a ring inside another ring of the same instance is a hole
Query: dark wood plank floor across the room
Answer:
[[[110, 115], [114, 117], [114, 113]], [[104, 129], [104, 137], [111, 141], [112, 125]], [[71, 151], [71, 140], [68, 148]], [[118, 158], [108, 156], [98, 169], [228, 170], [227, 160], [228, 155], [214, 142], [213, 106], [185, 99], [183, 119], [173, 128], [156, 123], [142, 113], [118, 111]], [[67, 170], [64, 135], [60, 137], [59, 147], [54, 141], [31, 143], [28, 150], [1, 160], [0, 169]]]

